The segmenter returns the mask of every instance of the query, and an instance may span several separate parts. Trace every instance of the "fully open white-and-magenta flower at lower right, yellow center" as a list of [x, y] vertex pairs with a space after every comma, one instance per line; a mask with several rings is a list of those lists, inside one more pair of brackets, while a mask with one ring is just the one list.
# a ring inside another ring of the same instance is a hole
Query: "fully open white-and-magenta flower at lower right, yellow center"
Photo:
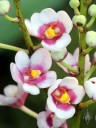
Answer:
[[47, 105], [58, 118], [66, 120], [75, 114], [73, 104], [80, 103], [84, 95], [85, 90], [75, 77], [65, 77], [49, 88]]

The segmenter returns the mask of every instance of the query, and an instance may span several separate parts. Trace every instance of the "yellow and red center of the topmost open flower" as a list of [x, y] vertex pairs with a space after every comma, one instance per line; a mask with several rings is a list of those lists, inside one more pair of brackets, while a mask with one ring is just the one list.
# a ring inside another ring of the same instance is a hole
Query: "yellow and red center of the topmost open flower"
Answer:
[[45, 31], [45, 36], [48, 39], [52, 39], [56, 36], [61, 35], [61, 31], [59, 29], [59, 27], [54, 27], [54, 24], [51, 25], [46, 31]]

